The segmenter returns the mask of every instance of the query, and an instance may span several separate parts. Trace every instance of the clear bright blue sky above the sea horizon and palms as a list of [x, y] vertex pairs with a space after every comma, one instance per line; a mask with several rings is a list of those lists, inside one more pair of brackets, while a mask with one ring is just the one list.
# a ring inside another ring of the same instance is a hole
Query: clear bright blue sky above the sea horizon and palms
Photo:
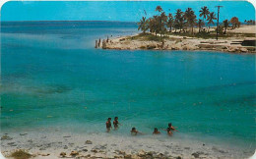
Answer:
[[217, 13], [221, 5], [220, 21], [238, 17], [240, 22], [255, 20], [255, 8], [246, 1], [9, 1], [1, 8], [1, 21], [120, 21], [138, 22], [145, 11], [147, 18], [156, 15], [157, 6], [165, 13], [175, 13], [207, 6]]

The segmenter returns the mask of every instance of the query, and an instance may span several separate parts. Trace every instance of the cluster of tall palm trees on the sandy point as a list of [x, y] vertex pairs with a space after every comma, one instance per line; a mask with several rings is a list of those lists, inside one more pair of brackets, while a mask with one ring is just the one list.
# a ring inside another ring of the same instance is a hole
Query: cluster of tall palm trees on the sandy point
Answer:
[[[142, 30], [143, 33], [150, 31], [156, 36], [158, 34], [162, 36], [166, 32], [172, 32], [173, 30], [174, 32], [188, 32], [188, 28], [190, 28], [190, 33], [194, 34], [194, 27], [198, 27], [199, 33], [210, 33], [211, 25], [215, 25], [214, 21], [217, 20], [215, 12], [211, 12], [207, 6], [202, 7], [199, 11], [199, 19], [197, 19], [192, 8], [187, 8], [185, 12], [177, 9], [174, 15], [171, 13], [166, 15], [160, 6], [157, 6], [156, 11], [158, 14], [148, 19], [146, 18], [147, 13], [145, 11], [146, 16], [142, 17], [138, 23], [138, 30]], [[219, 27], [222, 30], [219, 30], [219, 32], [225, 34], [230, 24], [233, 28], [240, 27], [238, 18], [233, 17], [230, 21], [224, 20], [223, 25]]]

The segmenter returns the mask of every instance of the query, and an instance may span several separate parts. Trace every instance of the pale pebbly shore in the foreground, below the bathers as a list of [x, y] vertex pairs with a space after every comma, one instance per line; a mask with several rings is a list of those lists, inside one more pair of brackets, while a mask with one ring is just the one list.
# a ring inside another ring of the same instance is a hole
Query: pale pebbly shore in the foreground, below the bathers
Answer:
[[[3, 137], [3, 136], [8, 137]], [[254, 150], [161, 135], [113, 133], [11, 132], [1, 134], [1, 151], [24, 149], [34, 158], [248, 158]], [[5, 139], [4, 139], [5, 138]], [[73, 152], [72, 152], [73, 151]], [[60, 154], [66, 154], [61, 156]], [[72, 155], [73, 154], [73, 155]]]

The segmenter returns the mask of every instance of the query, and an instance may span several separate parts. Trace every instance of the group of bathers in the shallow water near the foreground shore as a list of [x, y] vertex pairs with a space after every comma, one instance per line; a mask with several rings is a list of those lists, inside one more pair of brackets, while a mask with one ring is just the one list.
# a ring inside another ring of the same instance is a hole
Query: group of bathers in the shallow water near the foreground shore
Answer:
[[[113, 121], [114, 130], [117, 130], [119, 128], [119, 125], [121, 126], [121, 124], [118, 122], [118, 117], [115, 117]], [[105, 123], [105, 127], [106, 127], [106, 132], [110, 132], [110, 130], [112, 129], [111, 118], [107, 119]], [[166, 131], [168, 135], [172, 135], [173, 132], [178, 132], [176, 129], [177, 128], [173, 127], [171, 123], [169, 123], [167, 129], [163, 131]], [[132, 128], [131, 134], [137, 135], [137, 134], [144, 134], [144, 133], [137, 131], [136, 128]], [[153, 134], [160, 134], [160, 131], [158, 130], [158, 128], [154, 129]]]

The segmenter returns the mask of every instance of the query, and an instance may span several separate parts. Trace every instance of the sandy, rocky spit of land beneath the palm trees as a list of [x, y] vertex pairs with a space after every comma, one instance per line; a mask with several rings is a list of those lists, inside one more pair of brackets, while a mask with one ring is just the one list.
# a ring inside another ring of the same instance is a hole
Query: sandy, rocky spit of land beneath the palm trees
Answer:
[[[211, 28], [213, 29], [213, 28]], [[144, 36], [139, 34], [133, 36], [121, 36], [113, 38], [102, 45], [103, 49], [120, 50], [209, 50], [230, 53], [256, 53], [255, 46], [241, 45], [244, 40], [256, 40], [255, 36], [248, 36], [246, 33], [255, 34], [255, 26], [242, 26], [235, 29], [228, 29], [227, 34], [232, 36], [215, 38], [197, 38], [181, 35], [167, 35], [164, 42], [155, 40], [145, 40]], [[160, 35], [159, 35], [160, 36]]]

